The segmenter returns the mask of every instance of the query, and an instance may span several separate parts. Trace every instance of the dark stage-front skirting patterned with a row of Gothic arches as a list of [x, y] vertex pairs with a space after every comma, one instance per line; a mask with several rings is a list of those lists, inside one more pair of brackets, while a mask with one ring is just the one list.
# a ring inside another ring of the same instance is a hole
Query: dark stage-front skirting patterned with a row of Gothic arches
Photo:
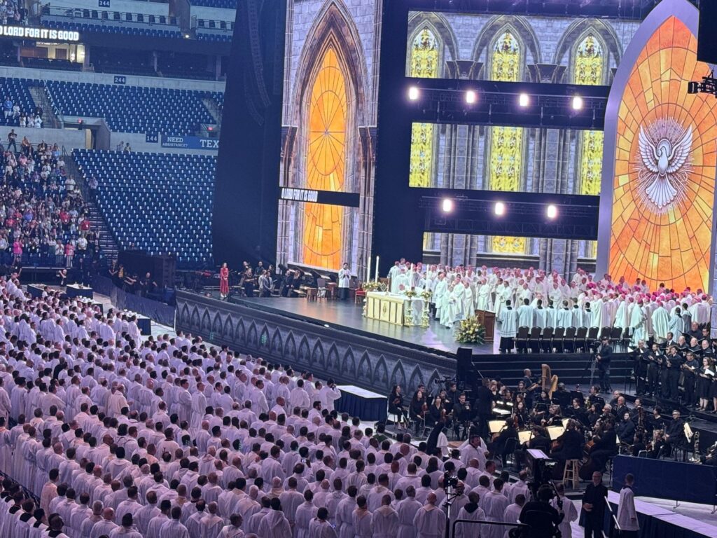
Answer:
[[382, 395], [388, 395], [393, 384], [401, 384], [404, 392], [412, 394], [421, 383], [433, 387], [434, 379], [455, 374], [455, 359], [445, 354], [293, 318], [251, 303], [227, 303], [177, 291], [176, 305], [179, 331]]

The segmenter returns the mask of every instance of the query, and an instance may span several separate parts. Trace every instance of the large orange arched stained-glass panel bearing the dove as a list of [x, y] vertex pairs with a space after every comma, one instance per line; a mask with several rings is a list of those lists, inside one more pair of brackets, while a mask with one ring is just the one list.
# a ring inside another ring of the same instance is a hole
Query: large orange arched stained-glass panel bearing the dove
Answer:
[[[717, 100], [687, 93], [688, 81], [706, 72], [708, 66], [697, 62], [695, 36], [671, 16], [647, 40], [625, 85], [617, 118], [609, 272], [628, 282], [644, 278], [651, 288], [660, 282], [678, 290], [708, 288]], [[654, 140], [663, 137], [659, 133], [667, 133], [665, 140]], [[668, 161], [666, 174], [646, 178], [655, 154], [650, 145], [660, 155], [665, 143], [687, 146], [686, 158]], [[684, 166], [689, 173], [679, 174]], [[672, 189], [660, 181], [670, 181]]]

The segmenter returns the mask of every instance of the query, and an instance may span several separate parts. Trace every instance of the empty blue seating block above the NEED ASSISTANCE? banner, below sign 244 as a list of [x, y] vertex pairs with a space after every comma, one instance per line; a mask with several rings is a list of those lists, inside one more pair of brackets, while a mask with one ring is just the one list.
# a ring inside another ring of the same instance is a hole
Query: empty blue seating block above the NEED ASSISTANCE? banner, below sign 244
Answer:
[[47, 90], [57, 113], [105, 118], [111, 131], [188, 135], [215, 123], [201, 102], [209, 92], [57, 80]]

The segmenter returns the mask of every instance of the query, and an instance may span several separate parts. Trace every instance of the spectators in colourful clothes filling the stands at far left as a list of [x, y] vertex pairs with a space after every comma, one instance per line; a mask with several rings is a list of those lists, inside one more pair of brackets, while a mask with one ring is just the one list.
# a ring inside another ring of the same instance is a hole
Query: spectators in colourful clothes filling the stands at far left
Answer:
[[[14, 131], [11, 131], [11, 135]], [[72, 267], [98, 253], [75, 180], [67, 176], [57, 144], [0, 145], [0, 261]]]

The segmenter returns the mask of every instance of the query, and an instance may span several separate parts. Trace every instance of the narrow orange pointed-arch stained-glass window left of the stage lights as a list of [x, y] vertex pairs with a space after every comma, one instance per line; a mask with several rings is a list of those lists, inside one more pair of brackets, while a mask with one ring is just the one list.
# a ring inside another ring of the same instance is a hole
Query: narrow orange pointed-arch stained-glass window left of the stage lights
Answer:
[[[323, 55], [308, 102], [308, 189], [343, 190], [346, 166], [346, 77], [333, 47]], [[343, 207], [305, 204], [303, 262], [324, 268], [341, 267]]]

